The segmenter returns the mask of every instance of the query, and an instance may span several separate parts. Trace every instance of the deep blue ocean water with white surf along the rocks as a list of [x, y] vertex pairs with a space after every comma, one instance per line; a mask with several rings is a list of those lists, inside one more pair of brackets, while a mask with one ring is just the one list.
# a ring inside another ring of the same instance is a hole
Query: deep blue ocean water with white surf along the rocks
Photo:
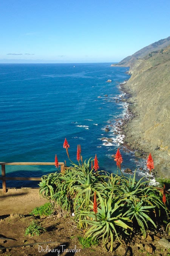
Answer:
[[[118, 147], [122, 170], [143, 165], [133, 152], [123, 151], [123, 135], [115, 134], [127, 110], [119, 87], [129, 79], [126, 71], [110, 63], [0, 64], [0, 162], [54, 162], [57, 154], [59, 162], [69, 165], [66, 138], [73, 161], [81, 144], [83, 160], [97, 154], [100, 169], [110, 173], [117, 172], [111, 155]], [[55, 171], [55, 166], [6, 166], [6, 176]], [[7, 187], [35, 184], [7, 181]]]

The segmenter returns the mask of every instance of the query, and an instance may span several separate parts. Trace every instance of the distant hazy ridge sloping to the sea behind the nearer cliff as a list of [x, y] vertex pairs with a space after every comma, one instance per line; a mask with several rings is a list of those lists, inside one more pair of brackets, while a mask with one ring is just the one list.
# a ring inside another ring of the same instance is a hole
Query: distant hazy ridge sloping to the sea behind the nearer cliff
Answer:
[[133, 55], [130, 55], [123, 60], [121, 60], [117, 64], [112, 64], [111, 66], [124, 66], [124, 67], [131, 67], [133, 66], [134, 62], [138, 60], [139, 58], [143, 58], [148, 54], [152, 54], [152, 52], [160, 51], [161, 49], [167, 47], [170, 44], [170, 36], [165, 39], [161, 39], [158, 42], [154, 42], [153, 44], [150, 44], [149, 46], [146, 46], [139, 50], [138, 52], [135, 52]]

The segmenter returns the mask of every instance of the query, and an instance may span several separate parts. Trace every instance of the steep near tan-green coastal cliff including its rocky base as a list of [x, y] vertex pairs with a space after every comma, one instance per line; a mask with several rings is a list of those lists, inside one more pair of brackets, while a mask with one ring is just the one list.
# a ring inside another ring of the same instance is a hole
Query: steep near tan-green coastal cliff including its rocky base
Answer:
[[170, 42], [145, 57], [133, 58], [129, 73], [122, 89], [130, 94], [127, 102], [133, 118], [124, 124], [124, 142], [145, 152], [145, 157], [151, 152], [155, 174], [170, 178]]

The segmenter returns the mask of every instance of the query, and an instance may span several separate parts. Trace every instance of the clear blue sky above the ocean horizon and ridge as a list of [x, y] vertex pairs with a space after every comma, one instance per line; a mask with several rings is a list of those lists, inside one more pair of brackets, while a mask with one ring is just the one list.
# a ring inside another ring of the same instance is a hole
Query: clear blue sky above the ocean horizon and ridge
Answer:
[[0, 0], [0, 24], [0, 63], [112, 63], [170, 36], [170, 1]]

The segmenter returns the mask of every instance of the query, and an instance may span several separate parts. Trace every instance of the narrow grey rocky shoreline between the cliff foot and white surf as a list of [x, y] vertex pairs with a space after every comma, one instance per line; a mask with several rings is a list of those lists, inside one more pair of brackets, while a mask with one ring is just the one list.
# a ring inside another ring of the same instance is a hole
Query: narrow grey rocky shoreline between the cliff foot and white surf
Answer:
[[[153, 170], [154, 177], [169, 178], [168, 170], [168, 155], [165, 152], [160, 151], [159, 146], [152, 145], [150, 142], [141, 138], [139, 134], [140, 127], [140, 108], [136, 96], [131, 90], [128, 90], [127, 82], [120, 84], [121, 91], [125, 93], [125, 101], [128, 104], [127, 114], [121, 122], [121, 132], [125, 135], [124, 143], [122, 146], [129, 151], [134, 151], [137, 157], [142, 157], [147, 160], [148, 154], [151, 152], [156, 159], [155, 169]], [[167, 162], [166, 162], [167, 160]], [[163, 171], [162, 171], [163, 170]]]

